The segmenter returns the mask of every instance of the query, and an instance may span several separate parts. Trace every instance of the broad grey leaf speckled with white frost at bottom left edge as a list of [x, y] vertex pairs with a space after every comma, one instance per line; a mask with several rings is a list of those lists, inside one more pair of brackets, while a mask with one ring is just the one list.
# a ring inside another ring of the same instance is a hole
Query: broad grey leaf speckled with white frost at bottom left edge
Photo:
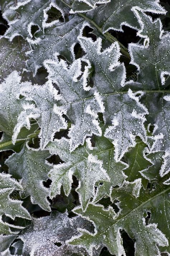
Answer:
[[[89, 221], [78, 216], [69, 218], [67, 213], [52, 212], [50, 216], [33, 218], [32, 224], [18, 237], [24, 242], [23, 255], [85, 255], [83, 248], [66, 243], [72, 235], [79, 234], [79, 228], [93, 231]], [[61, 246], [57, 246], [56, 243], [61, 243]]]

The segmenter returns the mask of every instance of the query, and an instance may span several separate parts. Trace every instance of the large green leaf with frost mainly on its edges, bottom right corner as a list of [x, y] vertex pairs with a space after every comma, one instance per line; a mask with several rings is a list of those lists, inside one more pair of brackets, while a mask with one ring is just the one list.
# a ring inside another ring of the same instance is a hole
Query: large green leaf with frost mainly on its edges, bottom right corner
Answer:
[[[120, 188], [114, 188], [112, 191], [112, 201], [119, 201], [118, 206], [121, 210], [118, 214], [113, 211], [112, 207], [104, 209], [103, 206], [93, 204], [89, 204], [86, 212], [82, 212], [80, 207], [74, 209], [75, 213], [93, 221], [96, 232], [94, 235], [82, 230], [82, 235], [73, 238], [70, 244], [81, 244], [91, 255], [92, 248], [97, 248], [100, 244], [106, 246], [114, 255], [125, 255], [120, 234], [120, 230], [124, 229], [131, 238], [136, 240], [136, 256], [159, 255], [157, 245], [168, 246], [165, 237], [165, 235], [169, 236], [168, 220], [165, 220], [167, 216], [166, 212], [163, 212], [164, 207], [161, 208], [162, 202], [168, 207], [168, 194], [168, 190], [161, 185], [154, 192], [146, 193], [141, 188], [140, 179], [131, 183], [124, 181]], [[144, 218], [148, 211], [155, 213], [157, 208], [162, 209], [162, 218], [165, 220], [163, 226], [159, 225], [158, 228], [155, 224], [157, 216], [153, 217], [149, 224], [145, 223]]]

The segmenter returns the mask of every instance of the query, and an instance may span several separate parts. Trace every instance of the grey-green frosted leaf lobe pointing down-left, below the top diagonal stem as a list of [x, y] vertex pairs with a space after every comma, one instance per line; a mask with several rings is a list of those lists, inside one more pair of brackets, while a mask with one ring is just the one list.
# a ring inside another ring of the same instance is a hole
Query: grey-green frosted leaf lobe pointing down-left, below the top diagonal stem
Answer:
[[69, 21], [57, 22], [55, 26], [46, 28], [44, 34], [37, 33], [38, 41], [30, 41], [33, 49], [28, 51], [28, 69], [35, 75], [44, 60], [55, 59], [56, 53], [71, 62], [82, 22], [82, 18], [74, 16]]

